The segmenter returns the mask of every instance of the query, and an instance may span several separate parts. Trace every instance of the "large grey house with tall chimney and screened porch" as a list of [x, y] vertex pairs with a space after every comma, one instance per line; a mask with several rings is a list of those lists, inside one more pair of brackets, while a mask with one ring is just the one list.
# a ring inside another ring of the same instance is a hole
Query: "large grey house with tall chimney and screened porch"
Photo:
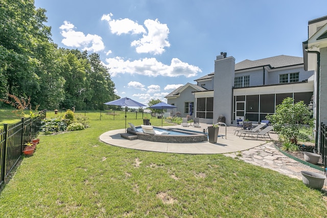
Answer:
[[238, 118], [259, 122], [275, 112], [275, 106], [286, 97], [309, 104], [314, 91], [314, 70], [305, 70], [303, 58], [276, 56], [244, 60], [221, 53], [215, 60], [215, 71], [181, 86], [165, 96], [181, 116], [193, 114], [201, 123], [217, 123], [225, 116], [227, 126]]

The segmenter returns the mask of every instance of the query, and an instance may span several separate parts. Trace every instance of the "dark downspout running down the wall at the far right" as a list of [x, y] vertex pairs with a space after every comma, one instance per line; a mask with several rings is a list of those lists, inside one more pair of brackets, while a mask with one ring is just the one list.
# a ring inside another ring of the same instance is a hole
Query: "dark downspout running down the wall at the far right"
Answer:
[[[315, 149], [318, 151], [318, 136], [319, 136], [319, 91], [320, 91], [320, 52], [308, 51], [307, 53], [317, 54], [317, 87], [316, 87], [316, 134], [315, 134]], [[320, 152], [320, 151], [319, 151]]]

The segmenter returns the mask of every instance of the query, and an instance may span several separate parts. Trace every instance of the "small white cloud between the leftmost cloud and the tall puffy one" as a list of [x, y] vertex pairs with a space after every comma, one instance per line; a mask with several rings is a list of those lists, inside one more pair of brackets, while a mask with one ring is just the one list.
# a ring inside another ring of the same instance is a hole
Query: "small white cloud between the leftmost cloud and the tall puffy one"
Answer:
[[109, 24], [110, 31], [113, 34], [121, 35], [123, 33], [131, 33], [131, 34], [141, 34], [146, 33], [144, 27], [139, 25], [137, 22], [130, 20], [128, 18], [115, 20], [112, 19], [112, 13], [104, 14], [101, 17], [101, 20], [106, 20]]

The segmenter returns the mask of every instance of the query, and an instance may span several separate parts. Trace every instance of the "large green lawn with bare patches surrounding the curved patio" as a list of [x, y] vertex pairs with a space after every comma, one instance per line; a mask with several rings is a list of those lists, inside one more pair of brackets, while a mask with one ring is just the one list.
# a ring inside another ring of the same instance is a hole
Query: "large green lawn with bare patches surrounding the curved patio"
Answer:
[[99, 136], [124, 121], [90, 126], [39, 137], [0, 193], [0, 217], [325, 217], [324, 194], [297, 179], [223, 155], [113, 147]]

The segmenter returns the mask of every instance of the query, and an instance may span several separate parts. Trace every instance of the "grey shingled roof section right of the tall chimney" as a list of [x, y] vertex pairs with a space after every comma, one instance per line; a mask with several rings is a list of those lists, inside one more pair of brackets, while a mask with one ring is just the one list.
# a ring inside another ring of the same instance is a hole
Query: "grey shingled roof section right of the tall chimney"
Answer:
[[287, 56], [287, 55], [279, 55], [270, 58], [264, 58], [260, 60], [244, 60], [237, 64], [235, 64], [235, 70], [254, 68], [259, 66], [270, 66], [271, 68], [277, 67], [285, 67], [285, 66], [293, 66], [303, 64], [303, 58]]

